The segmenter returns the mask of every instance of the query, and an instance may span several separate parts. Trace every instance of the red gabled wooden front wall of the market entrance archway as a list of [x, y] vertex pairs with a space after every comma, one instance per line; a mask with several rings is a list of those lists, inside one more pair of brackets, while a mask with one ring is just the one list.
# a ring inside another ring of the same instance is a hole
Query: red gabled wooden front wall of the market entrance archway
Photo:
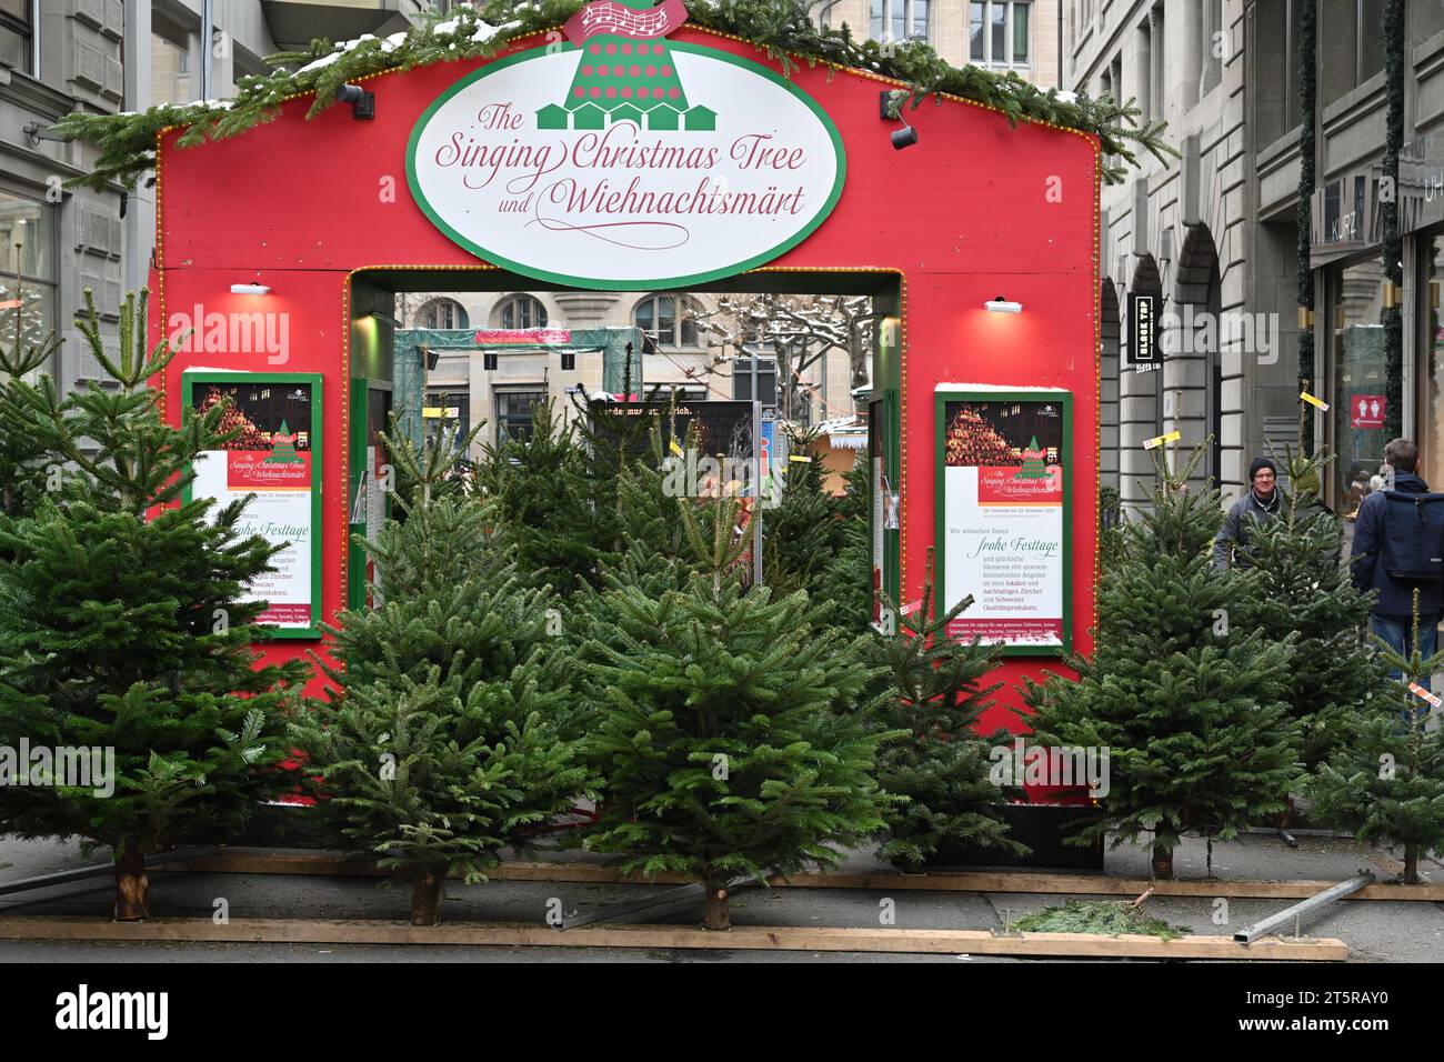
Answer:
[[[748, 42], [683, 26], [677, 42], [705, 43], [774, 72], [778, 62]], [[175, 315], [286, 314], [284, 364], [266, 353], [186, 351], [166, 370], [166, 410], [182, 412], [180, 373], [319, 374], [322, 381], [319, 603], [322, 620], [344, 605], [354, 457], [348, 452], [351, 381], [361, 298], [377, 277], [409, 275], [443, 288], [539, 288], [498, 270], [446, 237], [413, 199], [406, 149], [417, 120], [458, 78], [520, 51], [544, 48], [524, 38], [494, 59], [466, 59], [390, 71], [365, 79], [377, 114], [357, 121], [332, 107], [305, 118], [309, 100], [240, 137], [176, 147], [180, 130], [157, 149], [157, 250], [152, 276], [153, 338]], [[868, 290], [900, 319], [897, 354], [884, 357], [875, 386], [895, 392], [898, 420], [898, 598], [920, 595], [934, 539], [934, 390], [969, 381], [1058, 387], [1073, 396], [1073, 506], [1070, 516], [1073, 647], [1092, 650], [1095, 624], [1097, 483], [1097, 139], [1021, 121], [960, 98], [928, 100], [908, 120], [920, 143], [895, 150], [895, 121], [879, 118], [879, 91], [897, 82], [865, 71], [800, 62], [796, 85], [838, 127], [846, 153], [840, 199], [806, 238], [765, 266], [719, 288], [760, 289], [819, 282]], [[451, 273], [452, 276], [445, 276]], [[260, 285], [263, 295], [232, 293]], [[540, 285], [544, 286], [544, 285]], [[702, 285], [706, 286], [706, 285]], [[998, 295], [1024, 306], [995, 314]], [[186, 318], [182, 318], [182, 322]], [[196, 322], [199, 324], [199, 322]], [[222, 344], [224, 347], [224, 344]], [[271, 657], [293, 657], [315, 643], [270, 642]], [[1060, 669], [1057, 655], [1009, 656], [998, 675]], [[1002, 717], [985, 722], [1005, 722]]]

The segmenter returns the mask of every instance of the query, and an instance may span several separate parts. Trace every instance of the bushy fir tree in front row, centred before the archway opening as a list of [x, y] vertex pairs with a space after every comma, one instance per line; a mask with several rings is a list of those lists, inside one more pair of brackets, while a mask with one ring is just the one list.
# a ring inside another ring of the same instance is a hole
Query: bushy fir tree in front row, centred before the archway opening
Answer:
[[710, 539], [680, 509], [705, 569], [660, 595], [614, 587], [617, 640], [583, 647], [605, 691], [588, 746], [609, 764], [586, 845], [703, 883], [703, 923], [725, 929], [734, 878], [833, 865], [836, 845], [882, 826], [872, 772], [901, 734], [859, 711], [861, 642], [820, 623], [806, 594], [742, 592], [736, 501], [699, 507], [716, 510]]

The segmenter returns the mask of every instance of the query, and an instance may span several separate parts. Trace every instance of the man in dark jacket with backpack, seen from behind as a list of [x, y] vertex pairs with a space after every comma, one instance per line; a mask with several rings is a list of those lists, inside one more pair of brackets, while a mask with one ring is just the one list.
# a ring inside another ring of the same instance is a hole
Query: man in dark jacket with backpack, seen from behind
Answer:
[[1419, 591], [1419, 653], [1438, 644], [1444, 598], [1444, 494], [1418, 477], [1419, 448], [1395, 439], [1383, 448], [1393, 490], [1376, 490], [1359, 504], [1349, 569], [1354, 587], [1378, 590], [1369, 626], [1395, 652], [1414, 652], [1414, 591]]

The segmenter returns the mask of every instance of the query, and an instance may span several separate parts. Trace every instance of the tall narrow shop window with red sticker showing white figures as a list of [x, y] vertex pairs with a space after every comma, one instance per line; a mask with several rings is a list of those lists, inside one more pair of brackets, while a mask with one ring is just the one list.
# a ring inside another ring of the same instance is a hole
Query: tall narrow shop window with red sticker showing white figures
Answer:
[[[1375, 254], [1328, 270], [1333, 363], [1330, 435], [1334, 507], [1349, 516], [1370, 491], [1388, 442], [1383, 419], [1388, 357], [1383, 337], [1383, 264]], [[1379, 403], [1378, 412], [1373, 403]], [[1362, 413], [1360, 413], [1362, 409]]]

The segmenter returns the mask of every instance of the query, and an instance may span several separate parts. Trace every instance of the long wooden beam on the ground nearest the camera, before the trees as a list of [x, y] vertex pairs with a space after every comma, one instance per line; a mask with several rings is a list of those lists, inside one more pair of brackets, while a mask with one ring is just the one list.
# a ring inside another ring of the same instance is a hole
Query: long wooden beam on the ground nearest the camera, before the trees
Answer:
[[508, 922], [404, 922], [355, 919], [208, 918], [108, 922], [95, 918], [0, 918], [0, 939], [12, 941], [183, 941], [264, 944], [449, 944], [524, 948], [703, 948], [726, 951], [892, 952], [911, 955], [1005, 955], [1014, 958], [1261, 959], [1341, 962], [1343, 941], [1268, 939], [1236, 944], [1226, 936], [1095, 936], [1011, 933], [976, 929], [838, 929], [735, 926], [712, 932], [692, 926], [601, 925], [557, 931]]

